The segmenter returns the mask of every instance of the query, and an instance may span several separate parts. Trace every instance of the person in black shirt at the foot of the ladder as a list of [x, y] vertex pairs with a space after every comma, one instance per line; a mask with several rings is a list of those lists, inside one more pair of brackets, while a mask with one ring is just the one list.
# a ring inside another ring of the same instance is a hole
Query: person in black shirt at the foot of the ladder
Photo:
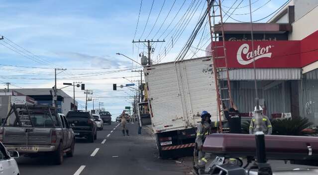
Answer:
[[240, 134], [242, 131], [241, 128], [241, 115], [237, 110], [237, 107], [233, 105], [233, 108], [227, 109], [223, 104], [224, 116], [226, 117], [229, 125], [229, 133]]

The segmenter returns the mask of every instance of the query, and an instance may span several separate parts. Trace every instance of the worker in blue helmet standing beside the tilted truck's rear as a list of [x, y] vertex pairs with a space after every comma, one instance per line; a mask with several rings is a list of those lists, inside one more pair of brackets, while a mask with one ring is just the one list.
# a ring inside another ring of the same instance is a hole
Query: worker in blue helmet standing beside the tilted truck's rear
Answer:
[[206, 163], [208, 162], [207, 159], [210, 158], [210, 154], [205, 153], [202, 150], [203, 143], [207, 137], [211, 133], [211, 115], [207, 111], [203, 111], [201, 114], [201, 122], [198, 124], [197, 128], [197, 138], [196, 144], [199, 150], [199, 162], [198, 167], [203, 168], [205, 167]]

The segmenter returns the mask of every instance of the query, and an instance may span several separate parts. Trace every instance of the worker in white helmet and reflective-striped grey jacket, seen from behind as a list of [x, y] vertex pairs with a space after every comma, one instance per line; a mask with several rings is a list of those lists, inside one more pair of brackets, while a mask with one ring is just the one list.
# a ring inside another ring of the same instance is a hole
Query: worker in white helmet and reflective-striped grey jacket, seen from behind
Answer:
[[[264, 134], [267, 134], [267, 135], [272, 135], [272, 124], [271, 124], [271, 121], [268, 119], [267, 116], [264, 116], [262, 114], [262, 111], [263, 109], [259, 106], [258, 107], [259, 110], [261, 111], [261, 116], [263, 117], [262, 119], [262, 123], [261, 123], [261, 128], [262, 128], [262, 131], [264, 132]], [[255, 112], [257, 111], [256, 107], [255, 107]], [[255, 116], [253, 116], [252, 120], [251, 120], [251, 123], [249, 125], [249, 134], [255, 134], [256, 132], [256, 125], [255, 125]]]

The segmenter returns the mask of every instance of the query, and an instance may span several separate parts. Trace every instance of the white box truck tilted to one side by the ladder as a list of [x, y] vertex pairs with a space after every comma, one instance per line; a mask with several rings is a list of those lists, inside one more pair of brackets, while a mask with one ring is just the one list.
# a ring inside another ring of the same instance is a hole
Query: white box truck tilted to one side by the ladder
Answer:
[[217, 121], [211, 58], [148, 65], [144, 74], [159, 157], [192, 154], [202, 111]]

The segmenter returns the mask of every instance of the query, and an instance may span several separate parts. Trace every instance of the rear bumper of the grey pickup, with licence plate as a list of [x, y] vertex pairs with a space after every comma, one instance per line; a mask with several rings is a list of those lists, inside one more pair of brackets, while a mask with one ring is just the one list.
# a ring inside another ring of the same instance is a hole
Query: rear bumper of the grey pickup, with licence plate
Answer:
[[[32, 151], [21, 150], [21, 147], [34, 147]], [[20, 154], [38, 153], [38, 152], [52, 152], [56, 150], [54, 145], [4, 145], [7, 150], [18, 151]]]

